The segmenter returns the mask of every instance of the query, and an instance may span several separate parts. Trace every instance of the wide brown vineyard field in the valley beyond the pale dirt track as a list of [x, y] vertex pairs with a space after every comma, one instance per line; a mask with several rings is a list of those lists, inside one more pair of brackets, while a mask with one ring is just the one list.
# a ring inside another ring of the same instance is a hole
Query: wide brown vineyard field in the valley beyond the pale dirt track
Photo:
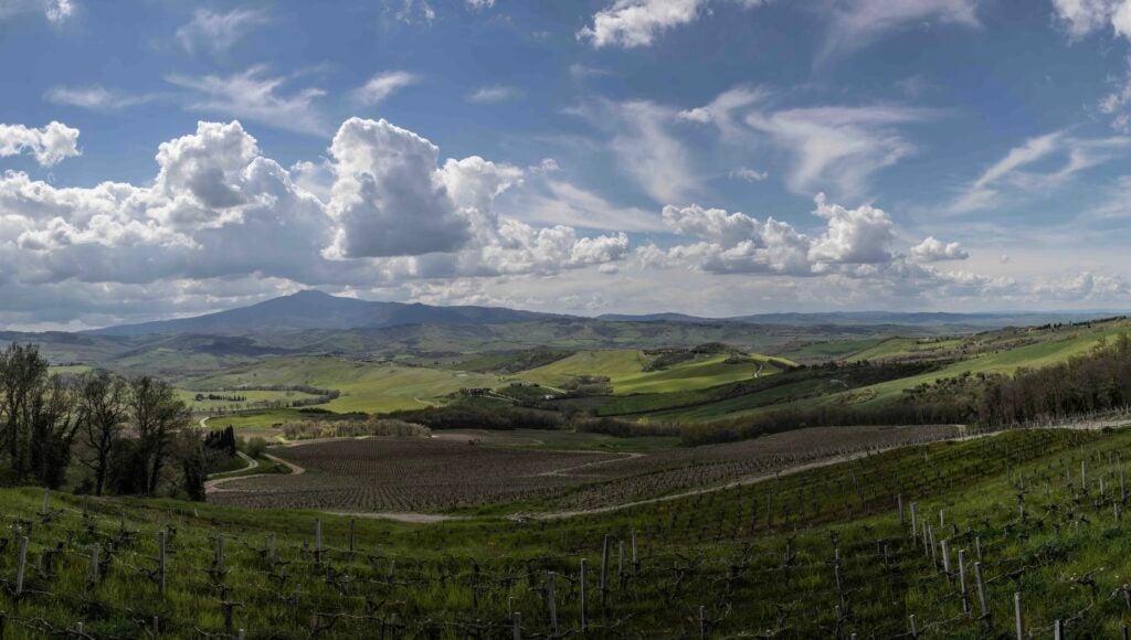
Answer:
[[516, 448], [523, 438], [330, 440], [274, 449], [307, 473], [232, 479], [209, 501], [257, 508], [435, 512], [515, 501], [601, 509], [841, 456], [957, 436], [953, 426], [814, 427], [655, 453]]

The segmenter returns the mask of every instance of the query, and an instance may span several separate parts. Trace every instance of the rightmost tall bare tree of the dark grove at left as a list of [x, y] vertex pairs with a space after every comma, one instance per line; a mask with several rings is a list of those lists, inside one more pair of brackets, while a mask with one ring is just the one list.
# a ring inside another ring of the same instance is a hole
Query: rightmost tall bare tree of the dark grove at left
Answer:
[[169, 460], [172, 435], [191, 418], [189, 408], [176, 397], [172, 384], [149, 375], [131, 380], [127, 398], [139, 453], [146, 465], [145, 491], [155, 493]]

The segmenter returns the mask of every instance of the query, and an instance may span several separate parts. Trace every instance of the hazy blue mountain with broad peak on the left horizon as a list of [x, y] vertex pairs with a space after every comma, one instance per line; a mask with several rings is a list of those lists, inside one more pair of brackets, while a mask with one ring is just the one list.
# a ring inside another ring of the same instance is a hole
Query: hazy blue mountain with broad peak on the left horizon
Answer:
[[369, 302], [303, 291], [251, 306], [195, 318], [122, 325], [86, 331], [98, 336], [167, 334], [242, 335], [251, 331], [308, 329], [380, 329], [406, 325], [507, 325], [561, 318], [551, 313], [493, 306], [431, 306], [402, 302]]

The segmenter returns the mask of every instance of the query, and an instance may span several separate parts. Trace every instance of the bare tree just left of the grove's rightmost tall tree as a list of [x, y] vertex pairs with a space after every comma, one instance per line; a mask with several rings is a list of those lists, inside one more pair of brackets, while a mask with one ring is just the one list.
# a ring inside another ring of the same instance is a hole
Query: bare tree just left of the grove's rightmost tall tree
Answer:
[[124, 380], [105, 371], [93, 371], [78, 384], [83, 444], [79, 460], [94, 472], [94, 494], [102, 495], [110, 472], [111, 453], [129, 416]]

